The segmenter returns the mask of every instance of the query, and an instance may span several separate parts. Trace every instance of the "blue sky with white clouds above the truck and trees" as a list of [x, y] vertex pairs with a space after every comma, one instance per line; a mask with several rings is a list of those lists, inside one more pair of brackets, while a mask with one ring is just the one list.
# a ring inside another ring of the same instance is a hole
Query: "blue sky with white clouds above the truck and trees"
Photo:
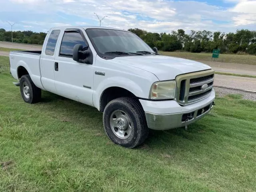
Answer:
[[150, 32], [256, 30], [256, 0], [0, 0], [0, 28], [47, 32], [89, 25]]

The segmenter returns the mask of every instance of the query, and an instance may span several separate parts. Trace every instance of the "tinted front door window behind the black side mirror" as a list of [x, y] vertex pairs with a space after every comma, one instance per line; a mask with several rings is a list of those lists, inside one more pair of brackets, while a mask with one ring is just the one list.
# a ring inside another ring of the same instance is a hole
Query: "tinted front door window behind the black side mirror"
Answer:
[[80, 33], [65, 32], [60, 46], [60, 56], [72, 57], [76, 44], [82, 44], [83, 48], [87, 47]]

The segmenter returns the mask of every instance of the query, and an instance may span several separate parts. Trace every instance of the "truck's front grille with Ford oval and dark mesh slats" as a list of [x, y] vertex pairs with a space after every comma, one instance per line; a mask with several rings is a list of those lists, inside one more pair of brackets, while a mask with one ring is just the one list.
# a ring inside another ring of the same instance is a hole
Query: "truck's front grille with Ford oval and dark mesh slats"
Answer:
[[[213, 87], [214, 70], [205, 70], [176, 77], [176, 101], [181, 105], [198, 102], [210, 94]], [[204, 84], [205, 88], [202, 88]]]

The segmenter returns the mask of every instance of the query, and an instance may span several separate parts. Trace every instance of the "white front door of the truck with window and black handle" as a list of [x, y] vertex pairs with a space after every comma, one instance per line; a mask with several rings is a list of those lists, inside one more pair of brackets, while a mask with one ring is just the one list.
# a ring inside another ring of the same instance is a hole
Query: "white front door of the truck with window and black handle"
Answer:
[[65, 30], [54, 63], [55, 86], [57, 94], [93, 106], [93, 65], [73, 60], [73, 49], [76, 44], [83, 48], [88, 43], [80, 29]]

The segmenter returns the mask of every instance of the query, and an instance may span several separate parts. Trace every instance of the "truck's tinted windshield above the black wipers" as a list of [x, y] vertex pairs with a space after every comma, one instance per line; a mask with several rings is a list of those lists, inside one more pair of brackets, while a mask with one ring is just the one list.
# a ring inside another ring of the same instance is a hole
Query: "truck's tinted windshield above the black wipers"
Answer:
[[111, 29], [87, 29], [86, 33], [96, 46], [96, 50], [101, 54], [118, 54], [120, 52], [127, 54], [149, 52], [149, 54], [153, 54], [154, 52], [144, 41], [131, 32]]

